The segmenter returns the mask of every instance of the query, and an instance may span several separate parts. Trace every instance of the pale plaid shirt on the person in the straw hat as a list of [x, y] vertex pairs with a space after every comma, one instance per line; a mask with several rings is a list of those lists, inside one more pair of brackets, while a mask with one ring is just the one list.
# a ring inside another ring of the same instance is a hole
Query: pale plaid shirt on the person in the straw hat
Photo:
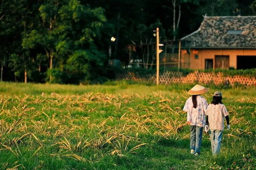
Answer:
[[192, 126], [205, 126], [205, 113], [208, 107], [206, 100], [201, 96], [197, 96], [197, 108], [193, 107], [192, 97], [188, 98], [185, 106], [183, 108], [184, 111], [187, 112], [187, 121], [190, 122]]

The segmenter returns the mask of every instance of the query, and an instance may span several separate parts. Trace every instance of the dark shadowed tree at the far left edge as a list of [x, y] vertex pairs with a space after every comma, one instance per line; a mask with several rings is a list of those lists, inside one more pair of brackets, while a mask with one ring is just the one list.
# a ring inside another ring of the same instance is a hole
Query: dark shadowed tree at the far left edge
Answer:
[[28, 60], [32, 60], [32, 56], [30, 56], [28, 50], [22, 47], [22, 36], [38, 23], [34, 17], [38, 3], [39, 1], [28, 2], [26, 0], [1, 2], [0, 13], [3, 15], [0, 20], [0, 37], [5, 40], [0, 42], [0, 54], [2, 54], [1, 75], [3, 75], [3, 65], [6, 64], [14, 71], [15, 81], [16, 77], [24, 72], [24, 81], [27, 82], [27, 71], [31, 67]]

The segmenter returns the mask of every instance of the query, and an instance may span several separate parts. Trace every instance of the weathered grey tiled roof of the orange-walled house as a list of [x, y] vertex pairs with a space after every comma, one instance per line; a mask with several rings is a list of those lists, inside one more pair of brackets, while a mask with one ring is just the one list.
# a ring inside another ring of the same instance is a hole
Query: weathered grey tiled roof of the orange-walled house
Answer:
[[199, 29], [181, 40], [190, 48], [256, 49], [256, 16], [205, 16]]

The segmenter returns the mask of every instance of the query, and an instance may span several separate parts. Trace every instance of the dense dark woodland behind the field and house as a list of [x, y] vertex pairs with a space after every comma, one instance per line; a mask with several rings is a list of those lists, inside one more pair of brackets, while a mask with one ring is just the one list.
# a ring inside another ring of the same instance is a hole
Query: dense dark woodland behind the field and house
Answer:
[[177, 40], [205, 14], [255, 15], [255, 1], [0, 0], [1, 80], [102, 82], [109, 59], [129, 60], [127, 44], [154, 43], [156, 27]]

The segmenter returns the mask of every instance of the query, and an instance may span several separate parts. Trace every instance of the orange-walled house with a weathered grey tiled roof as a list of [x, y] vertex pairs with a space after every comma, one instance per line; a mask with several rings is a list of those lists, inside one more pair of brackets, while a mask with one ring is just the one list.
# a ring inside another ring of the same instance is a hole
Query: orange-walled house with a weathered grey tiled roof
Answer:
[[256, 16], [204, 16], [181, 42], [191, 69], [256, 68]]

